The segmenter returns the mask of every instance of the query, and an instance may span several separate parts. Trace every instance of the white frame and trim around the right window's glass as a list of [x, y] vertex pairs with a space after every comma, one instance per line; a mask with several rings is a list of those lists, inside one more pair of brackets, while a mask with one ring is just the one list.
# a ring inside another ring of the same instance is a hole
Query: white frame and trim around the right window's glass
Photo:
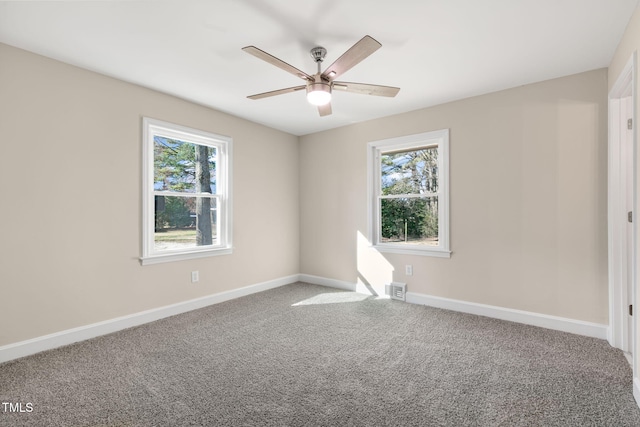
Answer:
[[[380, 155], [385, 152], [409, 150], [428, 145], [438, 145], [438, 242], [437, 247], [380, 242]], [[406, 255], [424, 255], [450, 258], [449, 243], [449, 129], [424, 132], [397, 138], [369, 142], [367, 146], [368, 172], [368, 231], [369, 242], [379, 252]]]

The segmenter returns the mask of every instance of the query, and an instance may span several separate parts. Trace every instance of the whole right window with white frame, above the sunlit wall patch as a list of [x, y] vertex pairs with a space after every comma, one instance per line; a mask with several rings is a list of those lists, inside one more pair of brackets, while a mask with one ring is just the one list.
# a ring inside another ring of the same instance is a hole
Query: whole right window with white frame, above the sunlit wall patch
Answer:
[[369, 235], [381, 252], [449, 257], [449, 130], [370, 142]]

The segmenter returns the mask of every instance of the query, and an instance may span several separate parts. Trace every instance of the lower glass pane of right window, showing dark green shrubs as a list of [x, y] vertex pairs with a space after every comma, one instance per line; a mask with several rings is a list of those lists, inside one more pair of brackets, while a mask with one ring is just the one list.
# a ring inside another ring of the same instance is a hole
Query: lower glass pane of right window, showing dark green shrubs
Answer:
[[382, 243], [438, 246], [438, 196], [380, 199]]

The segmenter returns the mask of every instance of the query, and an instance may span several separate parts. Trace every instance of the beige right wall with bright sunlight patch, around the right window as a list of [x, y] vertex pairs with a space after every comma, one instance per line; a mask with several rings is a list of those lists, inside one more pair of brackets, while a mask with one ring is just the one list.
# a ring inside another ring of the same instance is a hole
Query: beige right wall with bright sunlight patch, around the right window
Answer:
[[[606, 97], [601, 69], [301, 137], [301, 273], [607, 324]], [[451, 258], [374, 252], [367, 143], [444, 128]]]

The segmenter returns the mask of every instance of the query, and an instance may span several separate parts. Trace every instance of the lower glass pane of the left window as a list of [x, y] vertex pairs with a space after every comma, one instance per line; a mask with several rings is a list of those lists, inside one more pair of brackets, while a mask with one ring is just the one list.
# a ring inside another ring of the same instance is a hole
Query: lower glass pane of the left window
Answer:
[[217, 244], [215, 197], [155, 196], [154, 250]]

